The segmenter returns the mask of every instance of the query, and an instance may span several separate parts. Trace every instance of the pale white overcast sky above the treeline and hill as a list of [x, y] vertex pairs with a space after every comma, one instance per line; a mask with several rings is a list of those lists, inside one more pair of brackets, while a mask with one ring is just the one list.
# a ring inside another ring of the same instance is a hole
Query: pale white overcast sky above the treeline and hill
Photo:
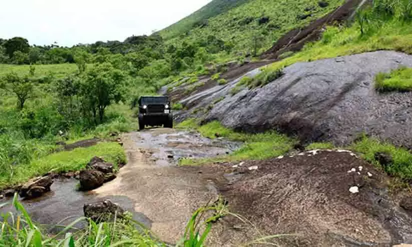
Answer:
[[150, 34], [210, 0], [1, 0], [0, 38], [23, 36], [30, 44], [74, 45], [123, 41]]

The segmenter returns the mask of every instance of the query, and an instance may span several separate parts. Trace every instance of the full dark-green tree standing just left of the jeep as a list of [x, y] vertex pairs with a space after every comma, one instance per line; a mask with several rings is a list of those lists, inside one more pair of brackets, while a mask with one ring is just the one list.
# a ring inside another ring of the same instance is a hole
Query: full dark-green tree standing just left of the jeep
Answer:
[[110, 63], [102, 63], [86, 71], [80, 80], [79, 94], [84, 106], [97, 123], [103, 122], [105, 109], [113, 101], [119, 102], [125, 94], [125, 75]]

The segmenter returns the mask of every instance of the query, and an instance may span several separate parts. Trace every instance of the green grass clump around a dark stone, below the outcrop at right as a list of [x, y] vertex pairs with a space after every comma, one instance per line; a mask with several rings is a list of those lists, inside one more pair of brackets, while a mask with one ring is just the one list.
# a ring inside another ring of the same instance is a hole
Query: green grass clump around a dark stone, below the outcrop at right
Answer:
[[[361, 153], [365, 160], [381, 167], [390, 175], [412, 179], [412, 153], [405, 148], [396, 147], [375, 138], [363, 137], [360, 141], [353, 143], [350, 149]], [[390, 153], [393, 158], [392, 164], [382, 167], [374, 158], [376, 152]]]

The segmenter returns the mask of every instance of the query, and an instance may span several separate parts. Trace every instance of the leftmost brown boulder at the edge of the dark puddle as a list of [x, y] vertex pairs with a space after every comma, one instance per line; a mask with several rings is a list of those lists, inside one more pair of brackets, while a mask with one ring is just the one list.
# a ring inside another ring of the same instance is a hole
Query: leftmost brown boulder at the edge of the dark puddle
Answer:
[[52, 183], [53, 179], [50, 176], [36, 177], [23, 184], [19, 194], [22, 197], [38, 197], [50, 191]]

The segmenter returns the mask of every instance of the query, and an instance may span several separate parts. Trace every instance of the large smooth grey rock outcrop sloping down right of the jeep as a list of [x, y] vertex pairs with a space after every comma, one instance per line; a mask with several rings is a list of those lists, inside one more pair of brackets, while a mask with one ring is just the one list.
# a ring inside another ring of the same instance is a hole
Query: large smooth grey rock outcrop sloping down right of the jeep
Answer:
[[[244, 131], [277, 128], [304, 141], [328, 140], [338, 145], [366, 133], [411, 148], [412, 92], [378, 93], [374, 88], [377, 73], [400, 66], [412, 67], [412, 55], [375, 51], [298, 62], [261, 88], [244, 88], [231, 95], [238, 78], [189, 95], [181, 102], [195, 106], [177, 119], [203, 117]], [[254, 69], [246, 75], [259, 72]], [[221, 97], [206, 115], [198, 110]]]

